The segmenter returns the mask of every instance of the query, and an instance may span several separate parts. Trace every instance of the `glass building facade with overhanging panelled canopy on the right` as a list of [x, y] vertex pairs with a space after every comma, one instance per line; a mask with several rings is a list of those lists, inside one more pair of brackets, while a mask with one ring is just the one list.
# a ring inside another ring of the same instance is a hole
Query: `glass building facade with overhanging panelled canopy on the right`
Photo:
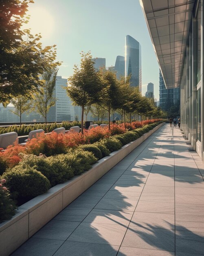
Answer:
[[180, 91], [181, 129], [203, 160], [203, 0], [140, 0], [140, 4], [165, 87]]

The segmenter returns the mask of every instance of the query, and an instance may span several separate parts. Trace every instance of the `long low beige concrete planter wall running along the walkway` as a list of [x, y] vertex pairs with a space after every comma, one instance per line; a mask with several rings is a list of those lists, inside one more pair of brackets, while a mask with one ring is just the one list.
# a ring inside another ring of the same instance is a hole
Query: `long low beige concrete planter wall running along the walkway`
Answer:
[[89, 171], [20, 206], [11, 220], [0, 224], [0, 255], [11, 254], [163, 124], [99, 160]]

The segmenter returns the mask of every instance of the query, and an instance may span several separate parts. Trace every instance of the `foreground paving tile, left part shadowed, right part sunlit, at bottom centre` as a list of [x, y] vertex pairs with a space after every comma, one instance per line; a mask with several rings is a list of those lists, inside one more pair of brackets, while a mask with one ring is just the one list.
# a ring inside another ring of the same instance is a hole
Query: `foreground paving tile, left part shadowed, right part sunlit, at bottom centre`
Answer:
[[127, 227], [103, 223], [82, 222], [69, 236], [68, 241], [121, 245]]

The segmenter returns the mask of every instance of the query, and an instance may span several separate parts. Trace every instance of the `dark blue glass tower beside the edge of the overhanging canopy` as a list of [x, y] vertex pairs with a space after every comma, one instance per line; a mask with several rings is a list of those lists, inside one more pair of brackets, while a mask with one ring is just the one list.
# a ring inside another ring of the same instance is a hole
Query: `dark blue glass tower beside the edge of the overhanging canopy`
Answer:
[[173, 89], [166, 89], [161, 71], [159, 71], [159, 106], [162, 110], [169, 110], [173, 105]]

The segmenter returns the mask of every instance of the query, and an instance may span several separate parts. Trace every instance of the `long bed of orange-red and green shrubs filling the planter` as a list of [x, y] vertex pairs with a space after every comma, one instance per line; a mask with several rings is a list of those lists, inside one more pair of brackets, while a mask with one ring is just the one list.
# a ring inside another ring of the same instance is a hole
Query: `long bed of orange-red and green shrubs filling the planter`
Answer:
[[0, 199], [7, 200], [10, 208], [7, 207], [7, 215], [0, 216], [0, 221], [11, 218], [15, 204], [19, 206], [50, 187], [88, 171], [99, 159], [138, 139], [161, 122], [158, 119], [132, 122], [126, 127], [112, 124], [110, 130], [97, 127], [85, 130], [83, 135], [52, 132], [40, 134], [26, 146], [9, 146], [0, 152], [0, 180], [4, 183], [0, 185]]

